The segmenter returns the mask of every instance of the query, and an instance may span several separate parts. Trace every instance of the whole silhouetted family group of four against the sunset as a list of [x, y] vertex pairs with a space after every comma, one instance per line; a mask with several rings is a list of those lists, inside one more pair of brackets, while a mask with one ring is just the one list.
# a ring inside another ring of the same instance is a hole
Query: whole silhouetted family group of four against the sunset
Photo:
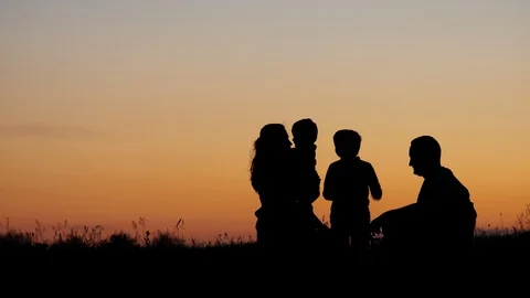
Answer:
[[[310, 118], [292, 127], [267, 124], [254, 142], [251, 184], [261, 202], [256, 243], [268, 251], [329, 248], [337, 256], [364, 256], [374, 235], [394, 252], [465, 253], [470, 248], [477, 213], [469, 191], [442, 166], [442, 148], [432, 136], [411, 141], [410, 162], [424, 182], [416, 202], [372, 220], [370, 198], [383, 191], [373, 166], [359, 157], [361, 135], [340, 129], [333, 135], [338, 160], [324, 183], [316, 170], [318, 127]], [[294, 145], [294, 147], [293, 147]], [[322, 184], [322, 191], [320, 187]], [[314, 213], [320, 196], [331, 202], [330, 226]]]

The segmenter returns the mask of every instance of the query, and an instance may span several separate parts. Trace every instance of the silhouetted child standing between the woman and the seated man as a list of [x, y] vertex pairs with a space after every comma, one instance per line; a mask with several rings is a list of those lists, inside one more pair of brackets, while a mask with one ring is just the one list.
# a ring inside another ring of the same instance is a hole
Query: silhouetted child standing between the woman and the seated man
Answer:
[[364, 253], [371, 238], [370, 193], [381, 200], [381, 184], [372, 164], [359, 158], [361, 136], [357, 131], [338, 130], [333, 143], [340, 159], [329, 166], [322, 191], [325, 200], [332, 202], [331, 232], [337, 248]]

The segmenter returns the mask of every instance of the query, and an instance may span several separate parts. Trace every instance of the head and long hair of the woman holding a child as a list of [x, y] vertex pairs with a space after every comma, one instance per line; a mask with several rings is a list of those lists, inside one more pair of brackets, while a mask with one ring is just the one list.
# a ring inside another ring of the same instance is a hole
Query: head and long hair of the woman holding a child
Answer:
[[284, 125], [267, 124], [261, 129], [259, 137], [254, 142], [251, 164], [251, 182], [255, 191], [261, 189], [262, 179], [278, 174], [276, 170], [285, 163], [292, 145]]

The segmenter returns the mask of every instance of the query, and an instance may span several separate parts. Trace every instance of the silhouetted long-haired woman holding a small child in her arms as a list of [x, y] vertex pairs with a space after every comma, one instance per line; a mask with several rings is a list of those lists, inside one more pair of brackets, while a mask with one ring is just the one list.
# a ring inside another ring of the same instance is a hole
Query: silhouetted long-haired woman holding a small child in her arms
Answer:
[[254, 142], [251, 164], [252, 188], [259, 196], [261, 207], [254, 213], [257, 244], [285, 247], [296, 232], [296, 201], [293, 195], [292, 142], [284, 125], [267, 124]]

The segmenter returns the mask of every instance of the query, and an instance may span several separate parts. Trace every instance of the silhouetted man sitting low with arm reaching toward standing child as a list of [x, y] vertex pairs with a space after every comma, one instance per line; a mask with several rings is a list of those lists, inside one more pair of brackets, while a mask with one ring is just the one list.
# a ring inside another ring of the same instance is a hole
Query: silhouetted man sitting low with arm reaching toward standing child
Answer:
[[[442, 149], [431, 136], [412, 140], [409, 166], [423, 177], [416, 203], [391, 210], [372, 222], [383, 240], [406, 248], [463, 252], [473, 242], [477, 213], [469, 191], [442, 166]], [[413, 241], [415, 240], [415, 241]]]

